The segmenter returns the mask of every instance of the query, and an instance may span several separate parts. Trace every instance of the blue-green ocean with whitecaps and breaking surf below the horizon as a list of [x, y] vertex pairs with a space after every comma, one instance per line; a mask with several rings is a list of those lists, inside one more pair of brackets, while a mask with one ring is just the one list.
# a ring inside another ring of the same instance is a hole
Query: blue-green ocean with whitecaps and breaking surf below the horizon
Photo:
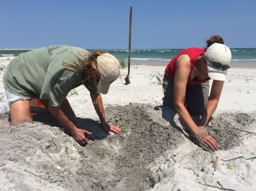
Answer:
[[[182, 49], [132, 49], [131, 62], [169, 62], [176, 57]], [[256, 64], [256, 48], [230, 49], [232, 53], [231, 63], [254, 63]], [[13, 56], [15, 52], [25, 53], [30, 50], [0, 50], [4, 57]], [[88, 51], [95, 51], [89, 50]], [[103, 51], [124, 58], [128, 62], [128, 49], [104, 49]]]

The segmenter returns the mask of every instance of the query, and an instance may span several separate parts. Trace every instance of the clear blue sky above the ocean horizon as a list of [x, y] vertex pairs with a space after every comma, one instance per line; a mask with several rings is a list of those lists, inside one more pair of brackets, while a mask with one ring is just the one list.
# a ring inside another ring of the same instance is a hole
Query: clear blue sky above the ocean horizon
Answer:
[[2, 0], [0, 48], [202, 47], [219, 35], [230, 48], [256, 48], [255, 0]]

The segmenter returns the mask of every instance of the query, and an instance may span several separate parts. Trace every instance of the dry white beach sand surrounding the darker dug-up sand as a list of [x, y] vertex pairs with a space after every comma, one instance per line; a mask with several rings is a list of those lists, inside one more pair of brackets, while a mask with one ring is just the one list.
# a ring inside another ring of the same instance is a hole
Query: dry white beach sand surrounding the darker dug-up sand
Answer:
[[[0, 64], [8, 64], [6, 57], [0, 58]], [[11, 58], [12, 59], [12, 58]], [[153, 104], [154, 101], [162, 103], [163, 90], [161, 85], [150, 84], [156, 81], [150, 81], [147, 76], [152, 72], [160, 72], [163, 74], [165, 67], [156, 66], [132, 66], [130, 71], [130, 84], [125, 85], [125, 76], [127, 70], [121, 70], [121, 76], [112, 85], [107, 95], [102, 95], [104, 106], [121, 105], [131, 103]], [[3, 72], [0, 72], [3, 74]], [[2, 83], [2, 75], [0, 75], [0, 92], [4, 92]], [[210, 84], [212, 81], [210, 82]], [[83, 86], [76, 88], [78, 95], [68, 97], [68, 100], [78, 117], [86, 117], [98, 120], [98, 116], [93, 108], [89, 91]], [[227, 80], [224, 84], [223, 91], [219, 105], [214, 115], [219, 115], [222, 112], [246, 112], [255, 114], [256, 110], [256, 69], [249, 68], [230, 68], [228, 70]], [[4, 100], [0, 101], [1, 105], [5, 105]], [[159, 114], [155, 114], [159, 115]], [[165, 113], [168, 115], [168, 113]], [[161, 116], [159, 116], [161, 117]], [[164, 119], [161, 119], [164, 120]], [[181, 126], [176, 120], [177, 125]], [[207, 127], [206, 127], [207, 128]], [[255, 126], [249, 126], [249, 130], [256, 132]], [[150, 190], [171, 190], [174, 185], [174, 190], [180, 189], [193, 191], [215, 191], [216, 188], [206, 187], [201, 183], [209, 185], [217, 185], [217, 180], [226, 188], [237, 191], [253, 191], [256, 190], [256, 136], [253, 134], [244, 133], [241, 138], [240, 146], [230, 148], [228, 151], [216, 151], [214, 154], [205, 155], [202, 149], [197, 145], [193, 145], [196, 155], [194, 155], [189, 141], [182, 143], [177, 149], [167, 151], [165, 156], [160, 156], [156, 160], [156, 165], [152, 167], [152, 173], [159, 176], [160, 182]], [[213, 157], [214, 156], [214, 157]], [[219, 157], [219, 166], [225, 173], [222, 174], [218, 170], [215, 172], [211, 168], [208, 161]], [[233, 169], [227, 168], [227, 163], [232, 163]], [[5, 164], [5, 163], [3, 163]], [[14, 171], [24, 174], [20, 167], [10, 165], [3, 165], [0, 163], [0, 170], [2, 168], [13, 168]], [[201, 169], [201, 170], [198, 170]], [[10, 184], [4, 174], [4, 170], [0, 171], [0, 178], [4, 180], [2, 185]], [[25, 173], [26, 174], [26, 173]], [[5, 178], [4, 178], [5, 177]], [[22, 175], [22, 177], [25, 177]], [[36, 187], [41, 184], [40, 181], [34, 181], [35, 177], [30, 176], [31, 187]], [[8, 179], [9, 180], [9, 179]], [[11, 180], [11, 179], [10, 179]], [[25, 183], [26, 182], [26, 183]], [[29, 184], [28, 176], [24, 178], [24, 183]], [[18, 183], [17, 183], [18, 184]], [[58, 187], [54, 183], [48, 183], [45, 188], [52, 190]], [[62, 187], [59, 187], [61, 190]], [[0, 190], [3, 190], [0, 188]]]

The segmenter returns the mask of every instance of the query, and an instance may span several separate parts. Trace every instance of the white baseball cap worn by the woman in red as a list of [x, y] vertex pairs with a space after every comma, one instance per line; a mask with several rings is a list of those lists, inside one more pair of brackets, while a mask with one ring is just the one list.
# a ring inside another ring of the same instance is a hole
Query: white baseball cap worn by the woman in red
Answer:
[[[211, 67], [210, 62], [217, 62], [222, 65], [228, 65], [231, 60], [230, 49], [222, 44], [214, 43], [204, 53], [207, 62], [208, 76], [213, 80], [225, 81], [226, 71], [218, 70], [218, 68]], [[210, 66], [209, 66], [210, 65]]]

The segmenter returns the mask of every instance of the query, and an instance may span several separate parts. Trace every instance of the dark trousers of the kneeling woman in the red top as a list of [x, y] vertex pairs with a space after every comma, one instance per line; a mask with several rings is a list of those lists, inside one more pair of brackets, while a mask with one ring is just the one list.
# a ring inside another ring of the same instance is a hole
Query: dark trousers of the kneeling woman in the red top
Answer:
[[[185, 104], [190, 115], [204, 115], [206, 104], [209, 100], [209, 81], [202, 84], [192, 84], [186, 87]], [[163, 78], [163, 105], [174, 108], [174, 80], [164, 76]]]

